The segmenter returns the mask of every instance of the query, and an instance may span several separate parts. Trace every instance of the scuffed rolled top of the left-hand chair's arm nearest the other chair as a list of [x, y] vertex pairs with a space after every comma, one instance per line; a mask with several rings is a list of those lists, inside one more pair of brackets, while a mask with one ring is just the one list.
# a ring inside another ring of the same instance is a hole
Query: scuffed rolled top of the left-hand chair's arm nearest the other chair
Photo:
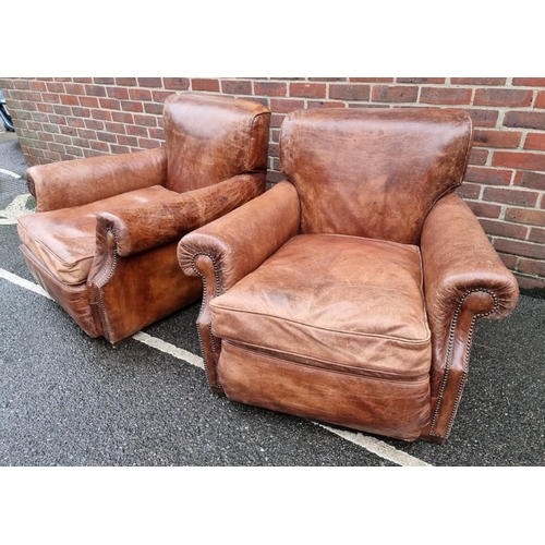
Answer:
[[97, 215], [97, 243], [109, 231], [121, 256], [160, 246], [238, 208], [264, 189], [264, 172], [239, 174], [186, 193], [171, 192], [159, 203], [106, 210]]

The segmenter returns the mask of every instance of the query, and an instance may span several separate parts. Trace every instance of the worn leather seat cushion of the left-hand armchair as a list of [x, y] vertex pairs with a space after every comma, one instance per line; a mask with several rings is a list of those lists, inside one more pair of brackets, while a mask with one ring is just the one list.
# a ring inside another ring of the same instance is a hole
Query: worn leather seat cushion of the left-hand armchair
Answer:
[[69, 286], [80, 284], [86, 281], [95, 257], [97, 214], [175, 195], [154, 185], [83, 206], [32, 214], [19, 219], [19, 237], [53, 277]]

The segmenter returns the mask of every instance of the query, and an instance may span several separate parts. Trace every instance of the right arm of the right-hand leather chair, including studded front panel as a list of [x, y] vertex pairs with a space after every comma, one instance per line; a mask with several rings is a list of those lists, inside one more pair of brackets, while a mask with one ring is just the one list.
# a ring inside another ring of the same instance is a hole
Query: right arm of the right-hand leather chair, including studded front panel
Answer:
[[428, 438], [443, 443], [468, 376], [475, 320], [504, 318], [519, 288], [462, 198], [437, 202], [421, 238], [425, 303], [432, 331], [432, 422]]

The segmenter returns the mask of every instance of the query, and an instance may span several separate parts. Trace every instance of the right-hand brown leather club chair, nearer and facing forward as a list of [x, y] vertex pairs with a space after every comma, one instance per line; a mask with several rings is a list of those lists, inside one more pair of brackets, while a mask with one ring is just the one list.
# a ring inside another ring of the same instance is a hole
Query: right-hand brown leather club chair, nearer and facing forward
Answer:
[[210, 387], [231, 400], [367, 433], [443, 443], [475, 319], [518, 286], [453, 190], [460, 110], [300, 110], [286, 180], [179, 244], [206, 296]]

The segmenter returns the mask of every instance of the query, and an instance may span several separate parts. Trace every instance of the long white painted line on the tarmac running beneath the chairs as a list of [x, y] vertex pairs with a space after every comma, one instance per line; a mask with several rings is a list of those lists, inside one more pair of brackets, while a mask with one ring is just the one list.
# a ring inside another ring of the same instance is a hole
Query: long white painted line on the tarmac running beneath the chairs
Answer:
[[[45, 290], [43, 290], [38, 284], [29, 282], [28, 280], [25, 280], [24, 278], [21, 278], [16, 275], [13, 275], [12, 272], [9, 272], [8, 270], [4, 270], [2, 268], [0, 268], [0, 278], [4, 278], [5, 280], [9, 280], [10, 282], [13, 282], [17, 286], [21, 286], [22, 288], [25, 288], [27, 290], [34, 291], [35, 293], [38, 293], [39, 295], [44, 295], [48, 299], [51, 299], [49, 294]], [[147, 335], [143, 331], [134, 334], [132, 338], [138, 342], [147, 344], [150, 348], [155, 348], [156, 350], [160, 350], [161, 352], [170, 354], [179, 360], [183, 360], [184, 362], [187, 362], [191, 365], [195, 365], [196, 367], [199, 367], [202, 370], [205, 368], [202, 358], [193, 354], [192, 352], [187, 352], [186, 350], [175, 347], [170, 342], [166, 342], [161, 339], [158, 339], [157, 337], [152, 337], [150, 335]], [[417, 458], [414, 458], [413, 456], [408, 455], [402, 450], [398, 450], [397, 448], [391, 447], [386, 443], [375, 439], [374, 437], [368, 437], [358, 432], [335, 429], [332, 427], [319, 424], [317, 422], [313, 423], [341, 437], [342, 439], [353, 443], [354, 445], [364, 448], [371, 453], [376, 455], [385, 460], [389, 460], [390, 462], [397, 463], [398, 465], [431, 467], [429, 463], [423, 462], [422, 460], [419, 460]]]

